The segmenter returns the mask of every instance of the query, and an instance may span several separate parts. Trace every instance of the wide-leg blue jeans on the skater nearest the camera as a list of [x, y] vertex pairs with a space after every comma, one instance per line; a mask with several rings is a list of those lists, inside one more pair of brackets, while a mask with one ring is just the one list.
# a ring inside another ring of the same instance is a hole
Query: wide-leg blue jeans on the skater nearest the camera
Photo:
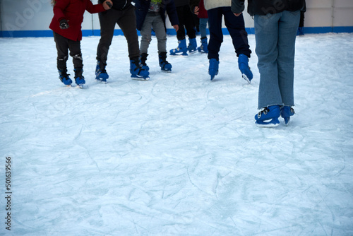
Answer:
[[294, 105], [294, 53], [299, 19], [300, 11], [254, 18], [260, 72], [258, 109]]

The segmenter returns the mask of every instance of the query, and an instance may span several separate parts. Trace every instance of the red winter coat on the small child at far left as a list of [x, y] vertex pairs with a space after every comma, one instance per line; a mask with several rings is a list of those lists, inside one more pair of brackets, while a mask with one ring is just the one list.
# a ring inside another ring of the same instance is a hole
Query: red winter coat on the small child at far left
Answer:
[[[81, 24], [85, 10], [91, 14], [105, 11], [102, 4], [93, 5], [90, 0], [56, 0], [53, 8], [54, 17], [49, 28], [70, 40], [82, 40]], [[69, 27], [66, 30], [59, 27], [62, 19], [68, 21]]]

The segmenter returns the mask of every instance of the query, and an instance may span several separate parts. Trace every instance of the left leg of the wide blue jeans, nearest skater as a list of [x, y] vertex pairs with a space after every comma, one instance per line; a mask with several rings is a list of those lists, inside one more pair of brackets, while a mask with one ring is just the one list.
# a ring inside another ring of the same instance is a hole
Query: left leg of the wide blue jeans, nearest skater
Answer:
[[277, 73], [278, 22], [281, 16], [282, 13], [254, 17], [255, 51], [258, 56], [258, 71], [260, 73], [258, 109], [283, 104]]

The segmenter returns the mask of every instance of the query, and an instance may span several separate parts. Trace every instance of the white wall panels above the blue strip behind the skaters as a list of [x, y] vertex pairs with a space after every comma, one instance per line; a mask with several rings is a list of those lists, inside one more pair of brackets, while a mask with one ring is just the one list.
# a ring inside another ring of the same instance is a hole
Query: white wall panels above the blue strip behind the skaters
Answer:
[[[92, 3], [97, 4], [97, 0]], [[306, 0], [306, 6], [305, 27], [353, 26], [353, 0]], [[243, 16], [246, 28], [253, 28], [251, 16], [246, 11]], [[50, 0], [0, 0], [0, 29], [4, 31], [49, 30], [52, 17]], [[99, 30], [98, 15], [86, 12], [82, 28]], [[169, 20], [167, 28], [172, 28]], [[118, 25], [116, 29], [119, 29]]]

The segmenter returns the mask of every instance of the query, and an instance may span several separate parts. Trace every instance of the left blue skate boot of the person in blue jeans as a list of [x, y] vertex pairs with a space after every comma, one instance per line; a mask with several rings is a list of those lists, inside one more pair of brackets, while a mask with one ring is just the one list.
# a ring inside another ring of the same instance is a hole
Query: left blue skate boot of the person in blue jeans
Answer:
[[258, 127], [275, 127], [280, 124], [280, 105], [272, 105], [263, 108], [261, 112], [255, 115], [256, 126]]

